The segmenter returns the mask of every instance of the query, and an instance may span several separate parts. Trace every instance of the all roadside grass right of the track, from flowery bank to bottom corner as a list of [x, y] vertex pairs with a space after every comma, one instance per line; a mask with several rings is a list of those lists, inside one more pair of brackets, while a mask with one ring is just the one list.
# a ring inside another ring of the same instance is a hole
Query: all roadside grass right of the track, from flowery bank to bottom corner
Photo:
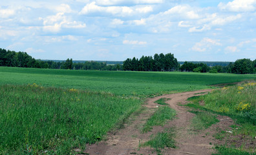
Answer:
[[[256, 154], [253, 142], [243, 146], [243, 139], [255, 141], [256, 137], [256, 82], [247, 81], [239, 85], [223, 87], [213, 90], [205, 96], [190, 98], [191, 103], [187, 107], [192, 107], [200, 112], [225, 115], [232, 118], [237, 125], [232, 125], [231, 133], [226, 130], [219, 132], [213, 137], [219, 140], [230, 141], [224, 146], [216, 147], [217, 154]], [[200, 105], [204, 101], [204, 105]], [[195, 123], [195, 122], [194, 122]], [[196, 124], [196, 123], [195, 123]], [[242, 138], [242, 139], [240, 139]], [[234, 146], [237, 146], [235, 148]], [[246, 152], [247, 151], [247, 152]], [[249, 151], [249, 152], [248, 152]]]

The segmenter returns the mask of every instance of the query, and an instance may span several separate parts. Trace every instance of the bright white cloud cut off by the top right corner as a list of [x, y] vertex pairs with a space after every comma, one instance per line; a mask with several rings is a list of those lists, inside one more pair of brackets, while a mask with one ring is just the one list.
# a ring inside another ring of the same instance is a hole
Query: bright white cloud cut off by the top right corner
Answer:
[[227, 4], [219, 3], [220, 10], [229, 10], [231, 12], [251, 12], [255, 10], [255, 0], [234, 0]]

